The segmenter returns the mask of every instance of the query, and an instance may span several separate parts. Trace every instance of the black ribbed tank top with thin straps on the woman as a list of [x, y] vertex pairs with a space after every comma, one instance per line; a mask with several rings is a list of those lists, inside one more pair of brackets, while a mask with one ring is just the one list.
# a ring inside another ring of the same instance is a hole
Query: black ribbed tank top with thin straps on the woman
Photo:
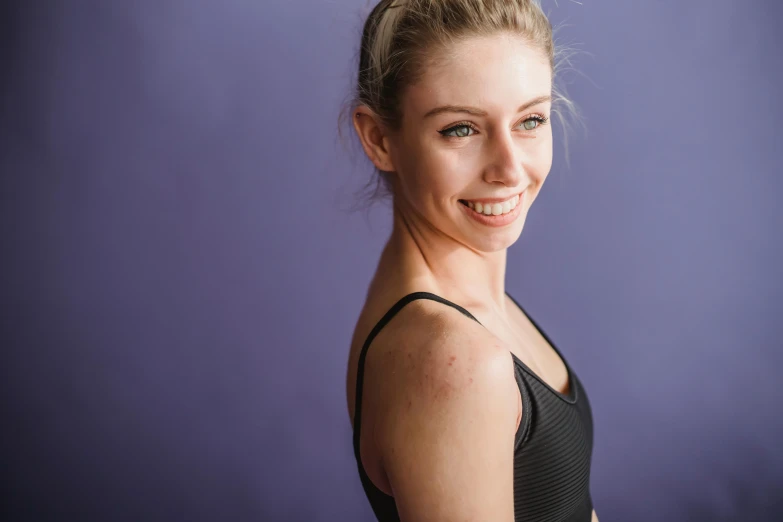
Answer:
[[[593, 451], [593, 419], [587, 394], [563, 355], [519, 307], [544, 339], [563, 360], [568, 371], [569, 392], [559, 393], [541, 380], [516, 355], [514, 374], [522, 396], [522, 419], [514, 443], [514, 520], [515, 522], [590, 522], [593, 503], [590, 497], [590, 461]], [[394, 497], [372, 483], [362, 466], [359, 454], [362, 418], [364, 360], [370, 343], [378, 332], [405, 305], [416, 299], [430, 299], [456, 308], [481, 324], [470, 312], [429, 292], [408, 294], [375, 325], [359, 354], [356, 372], [353, 449], [370, 506], [379, 522], [399, 522]]]

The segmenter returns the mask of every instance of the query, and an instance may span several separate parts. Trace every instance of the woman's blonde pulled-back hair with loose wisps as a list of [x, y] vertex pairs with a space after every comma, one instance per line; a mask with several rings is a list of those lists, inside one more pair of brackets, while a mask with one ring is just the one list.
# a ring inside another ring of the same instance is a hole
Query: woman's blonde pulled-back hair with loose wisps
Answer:
[[[558, 107], [575, 114], [575, 106], [554, 79], [568, 57], [558, 59], [552, 25], [539, 0], [381, 0], [364, 23], [350, 111], [366, 105], [389, 128], [398, 128], [401, 94], [432, 63], [435, 51], [448, 50], [464, 38], [499, 32], [521, 36], [547, 57], [553, 78], [552, 112], [565, 125]], [[388, 174], [377, 174], [364, 187], [374, 185], [371, 200], [391, 193]]]

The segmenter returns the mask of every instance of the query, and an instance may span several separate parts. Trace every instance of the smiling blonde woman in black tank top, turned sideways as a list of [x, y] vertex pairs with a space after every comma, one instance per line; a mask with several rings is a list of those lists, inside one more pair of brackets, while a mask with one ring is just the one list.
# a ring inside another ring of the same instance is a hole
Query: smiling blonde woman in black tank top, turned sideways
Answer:
[[352, 123], [394, 225], [347, 395], [381, 522], [597, 520], [585, 390], [504, 290], [552, 164], [554, 63], [534, 0], [384, 0], [365, 23]]

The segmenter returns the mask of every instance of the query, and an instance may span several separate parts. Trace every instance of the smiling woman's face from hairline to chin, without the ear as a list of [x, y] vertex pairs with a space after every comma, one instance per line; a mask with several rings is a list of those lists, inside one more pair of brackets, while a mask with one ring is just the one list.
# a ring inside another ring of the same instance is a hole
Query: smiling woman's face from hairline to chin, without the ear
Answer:
[[507, 248], [552, 166], [549, 62], [507, 34], [436, 58], [403, 92], [402, 123], [389, 137], [395, 197], [465, 246]]

